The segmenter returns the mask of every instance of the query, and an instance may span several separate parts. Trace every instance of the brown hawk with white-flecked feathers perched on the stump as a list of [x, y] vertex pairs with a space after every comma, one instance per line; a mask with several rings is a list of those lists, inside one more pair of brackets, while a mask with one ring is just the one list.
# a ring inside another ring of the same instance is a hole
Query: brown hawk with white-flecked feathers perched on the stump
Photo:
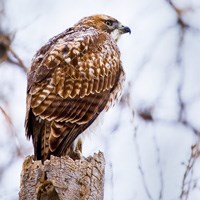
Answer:
[[77, 137], [120, 93], [124, 71], [116, 42], [130, 32], [110, 16], [85, 17], [36, 53], [25, 120], [35, 159], [79, 155]]

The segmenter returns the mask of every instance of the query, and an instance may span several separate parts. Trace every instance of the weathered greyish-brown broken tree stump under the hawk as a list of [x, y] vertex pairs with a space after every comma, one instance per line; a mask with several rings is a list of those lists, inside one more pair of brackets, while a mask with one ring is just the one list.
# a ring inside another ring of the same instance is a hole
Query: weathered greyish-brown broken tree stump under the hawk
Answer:
[[44, 164], [25, 159], [19, 200], [103, 200], [105, 160], [103, 153], [73, 160], [51, 156]]

